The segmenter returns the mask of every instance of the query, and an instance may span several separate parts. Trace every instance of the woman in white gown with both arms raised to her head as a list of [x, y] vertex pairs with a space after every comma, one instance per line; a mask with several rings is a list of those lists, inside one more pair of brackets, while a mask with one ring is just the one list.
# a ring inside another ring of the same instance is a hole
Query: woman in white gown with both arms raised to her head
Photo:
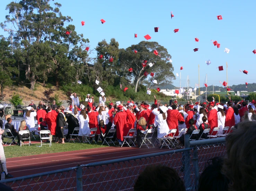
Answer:
[[161, 138], [165, 137], [168, 132], [169, 132], [169, 127], [166, 122], [166, 117], [167, 113], [166, 111], [168, 110], [167, 107], [161, 106], [158, 110], [157, 108], [154, 109], [152, 112], [154, 115], [156, 115], [155, 118], [155, 127], [157, 128], [157, 138], [160, 143], [160, 148], [161, 148]]

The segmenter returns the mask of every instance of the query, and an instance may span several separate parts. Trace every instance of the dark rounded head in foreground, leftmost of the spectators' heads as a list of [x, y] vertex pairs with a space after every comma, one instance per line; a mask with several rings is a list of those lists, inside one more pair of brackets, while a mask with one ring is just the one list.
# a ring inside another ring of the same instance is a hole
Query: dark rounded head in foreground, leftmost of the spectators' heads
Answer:
[[185, 191], [176, 170], [161, 165], [147, 166], [134, 184], [134, 191]]

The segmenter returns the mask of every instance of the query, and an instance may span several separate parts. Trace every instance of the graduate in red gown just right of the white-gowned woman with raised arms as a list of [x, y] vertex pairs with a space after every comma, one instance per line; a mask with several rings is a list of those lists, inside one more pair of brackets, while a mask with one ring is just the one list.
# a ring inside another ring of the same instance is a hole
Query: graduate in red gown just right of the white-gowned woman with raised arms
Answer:
[[171, 108], [172, 108], [172, 110], [170, 108], [168, 108], [168, 110], [167, 110], [166, 122], [167, 122], [170, 130], [177, 129], [174, 136], [178, 136], [179, 135], [178, 121], [185, 121], [185, 120], [184, 120], [184, 117], [182, 116], [182, 114], [180, 114], [180, 112], [178, 110], [176, 110], [176, 108], [177, 108], [176, 104], [173, 104], [171, 106]]

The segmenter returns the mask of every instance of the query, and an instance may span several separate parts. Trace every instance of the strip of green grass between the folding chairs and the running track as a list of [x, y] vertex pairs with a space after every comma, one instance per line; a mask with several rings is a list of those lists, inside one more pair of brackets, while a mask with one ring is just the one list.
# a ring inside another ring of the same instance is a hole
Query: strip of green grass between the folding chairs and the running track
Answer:
[[[25, 142], [27, 143], [27, 142]], [[32, 144], [22, 145], [21, 147], [18, 145], [4, 147], [5, 156], [6, 158], [13, 158], [13, 157], [24, 157], [36, 154], [47, 154], [47, 153], [58, 153], [58, 152], [66, 152], [66, 151], [76, 151], [76, 150], [85, 150], [85, 149], [94, 149], [94, 148], [101, 148], [107, 147], [105, 145], [101, 145], [101, 142], [98, 144], [88, 144], [88, 143], [52, 143], [52, 146], [49, 145], [42, 145], [42, 147], [38, 147], [41, 144]], [[37, 146], [37, 147], [36, 147]]]

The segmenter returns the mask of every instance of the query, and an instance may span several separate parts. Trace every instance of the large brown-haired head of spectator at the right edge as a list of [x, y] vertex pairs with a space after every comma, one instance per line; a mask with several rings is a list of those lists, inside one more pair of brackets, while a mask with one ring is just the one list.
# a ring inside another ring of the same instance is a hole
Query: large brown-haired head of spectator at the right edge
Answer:
[[223, 171], [229, 190], [256, 190], [256, 122], [240, 122], [226, 137]]

